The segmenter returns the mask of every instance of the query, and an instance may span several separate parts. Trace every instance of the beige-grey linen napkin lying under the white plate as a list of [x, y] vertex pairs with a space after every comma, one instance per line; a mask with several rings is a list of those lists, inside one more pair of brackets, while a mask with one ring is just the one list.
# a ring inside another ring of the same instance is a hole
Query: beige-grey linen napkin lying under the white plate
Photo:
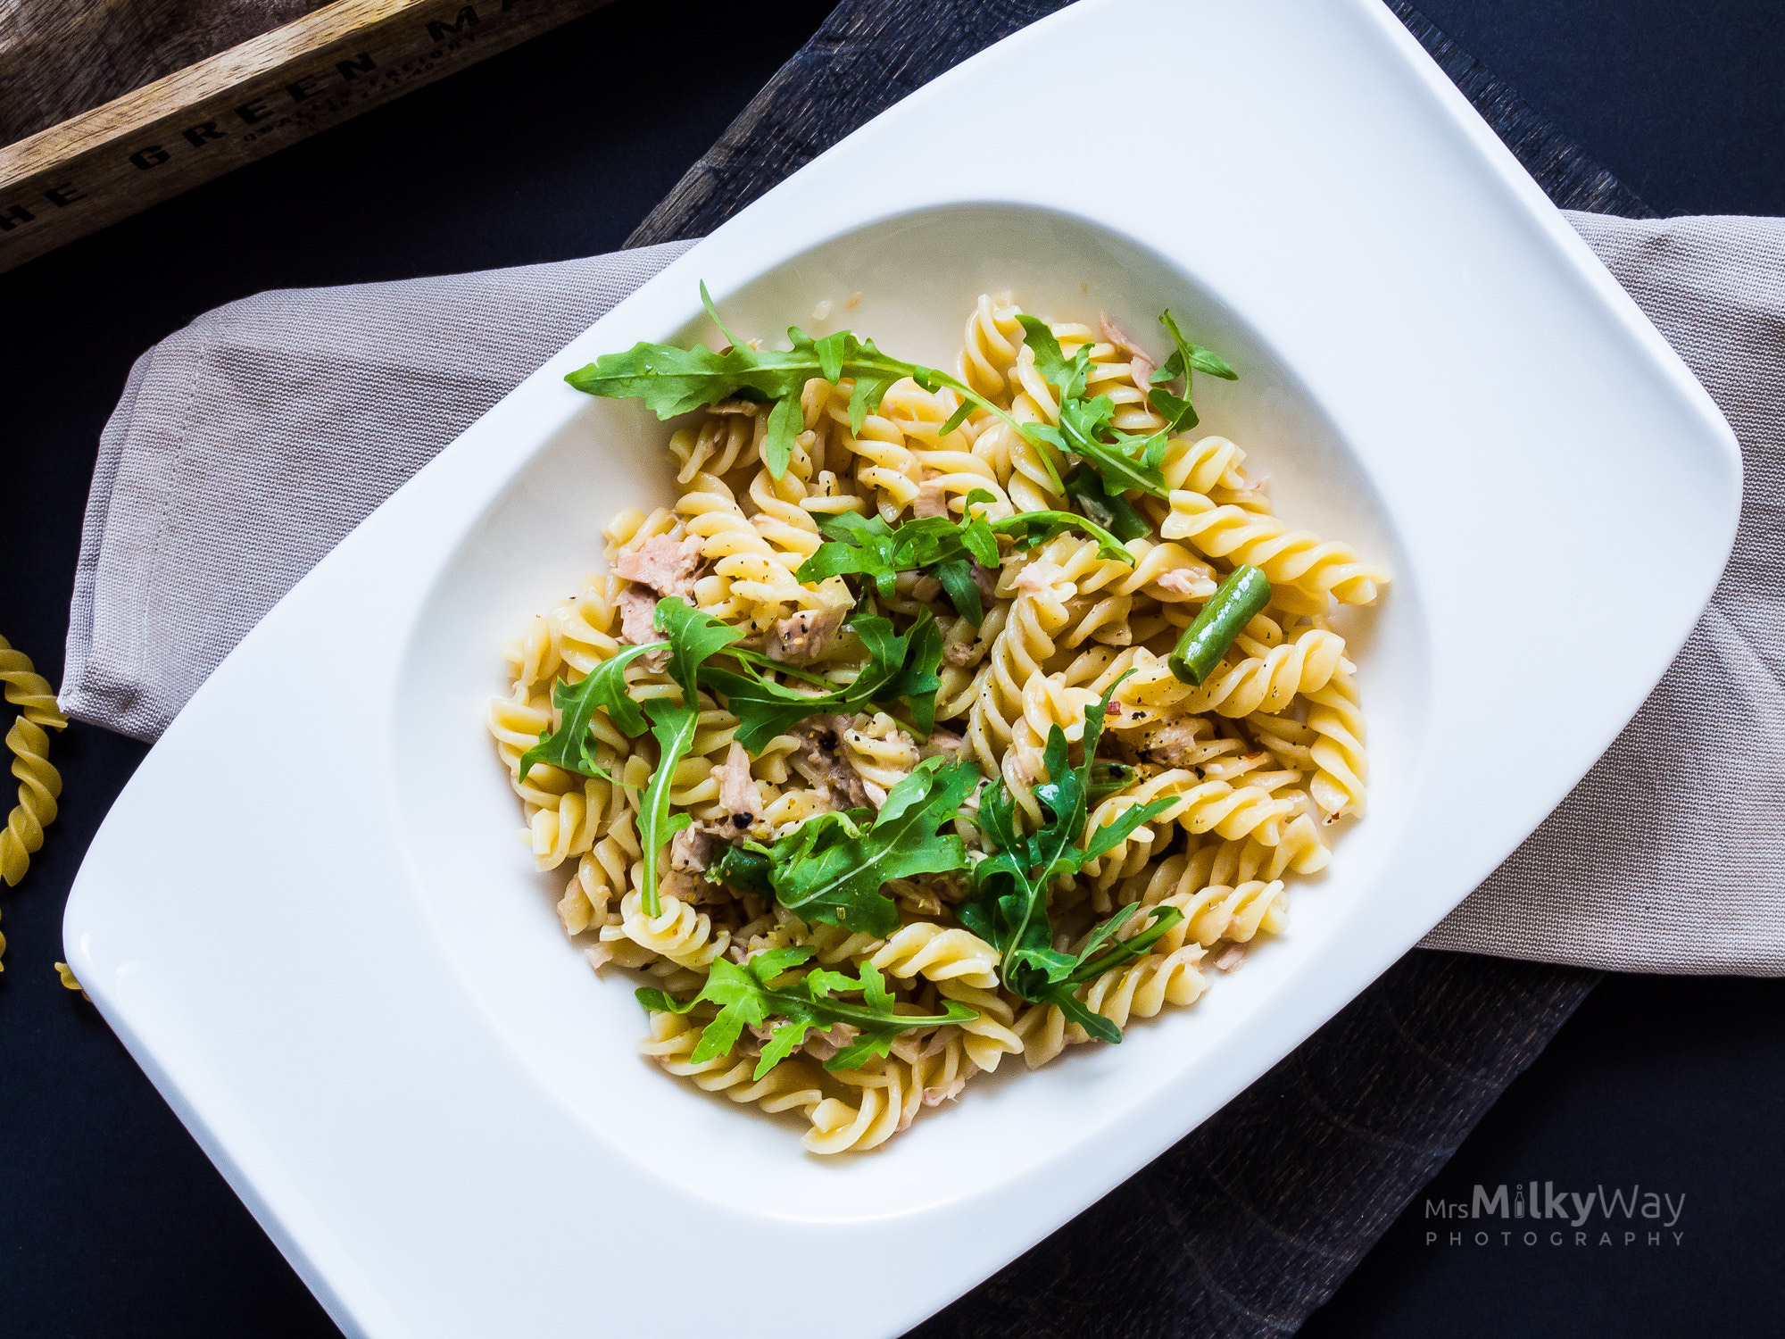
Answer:
[[[1426, 944], [1592, 968], [1780, 973], [1785, 220], [1569, 221], [1740, 437], [1742, 527], [1662, 686]], [[100, 439], [64, 711], [159, 736], [353, 525], [685, 246], [262, 293], [161, 341], [137, 359]], [[1664, 536], [1655, 561], [1665, 562]]]

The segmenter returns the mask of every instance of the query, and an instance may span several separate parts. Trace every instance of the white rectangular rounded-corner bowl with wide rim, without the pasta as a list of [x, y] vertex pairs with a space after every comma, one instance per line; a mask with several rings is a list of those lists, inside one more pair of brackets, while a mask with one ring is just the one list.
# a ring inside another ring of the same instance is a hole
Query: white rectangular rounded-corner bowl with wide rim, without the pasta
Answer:
[[[1169, 305], [1241, 370], [1200, 384], [1207, 430], [1282, 516], [1394, 570], [1351, 628], [1371, 812], [1289, 934], [862, 1157], [637, 1057], [630, 984], [564, 941], [482, 725], [500, 643], [598, 564], [614, 509], [669, 496], [664, 428], [562, 375], [705, 332], [698, 279], [748, 332], [830, 298], [825, 329], [944, 366], [980, 291], [1130, 329]], [[898, 1334], [1214, 1112], [1540, 821], [1685, 639], [1739, 491], [1710, 400], [1374, 0], [1087, 0], [743, 211], [348, 536], [118, 800], [70, 962], [352, 1334]], [[862, 1303], [834, 1262], [880, 1250], [905, 1268]], [[776, 1259], [830, 1264], [741, 1310]]]

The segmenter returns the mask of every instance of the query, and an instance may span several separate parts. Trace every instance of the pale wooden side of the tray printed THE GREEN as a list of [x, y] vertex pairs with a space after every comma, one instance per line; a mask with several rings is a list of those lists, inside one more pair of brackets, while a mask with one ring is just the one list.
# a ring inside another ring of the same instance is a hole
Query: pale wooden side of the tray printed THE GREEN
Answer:
[[[37, 130], [0, 148], [0, 270], [605, 2], [336, 0]], [[29, 46], [0, 46], [0, 68]], [[29, 107], [21, 87], [5, 75], [7, 105]]]

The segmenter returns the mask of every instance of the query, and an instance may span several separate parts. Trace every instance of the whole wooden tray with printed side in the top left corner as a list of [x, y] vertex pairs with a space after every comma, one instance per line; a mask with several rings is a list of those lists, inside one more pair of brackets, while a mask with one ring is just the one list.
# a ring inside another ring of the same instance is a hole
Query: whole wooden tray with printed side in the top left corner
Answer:
[[[0, 5], [0, 137], [34, 130], [0, 146], [0, 271], [603, 4]], [[182, 55], [195, 59], [136, 86]]]

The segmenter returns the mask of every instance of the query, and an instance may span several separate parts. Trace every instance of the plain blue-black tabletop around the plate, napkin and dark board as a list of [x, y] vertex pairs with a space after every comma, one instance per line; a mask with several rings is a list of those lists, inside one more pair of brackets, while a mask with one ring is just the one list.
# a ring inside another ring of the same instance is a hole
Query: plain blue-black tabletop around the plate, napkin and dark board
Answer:
[[[678, 4], [673, 23], [666, 9], [621, 0], [0, 275], [0, 632], [59, 680], [98, 432], [143, 348], [268, 287], [616, 248], [826, 5]], [[1424, 11], [1662, 214], [1785, 214], [1785, 7]], [[0, 1332], [332, 1335], [50, 969], [80, 855], [145, 752], [80, 725], [52, 750], [62, 816], [29, 878], [0, 893]], [[1476, 1182], [1639, 1184], [1687, 1196], [1681, 1244], [1526, 1248], [1496, 1234], [1453, 1248], [1421, 1196], [1305, 1334], [1785, 1334], [1781, 1005], [1778, 982], [1606, 978], [1430, 1189], [1467, 1200]], [[591, 1325], [598, 1316], [591, 1296]]]

